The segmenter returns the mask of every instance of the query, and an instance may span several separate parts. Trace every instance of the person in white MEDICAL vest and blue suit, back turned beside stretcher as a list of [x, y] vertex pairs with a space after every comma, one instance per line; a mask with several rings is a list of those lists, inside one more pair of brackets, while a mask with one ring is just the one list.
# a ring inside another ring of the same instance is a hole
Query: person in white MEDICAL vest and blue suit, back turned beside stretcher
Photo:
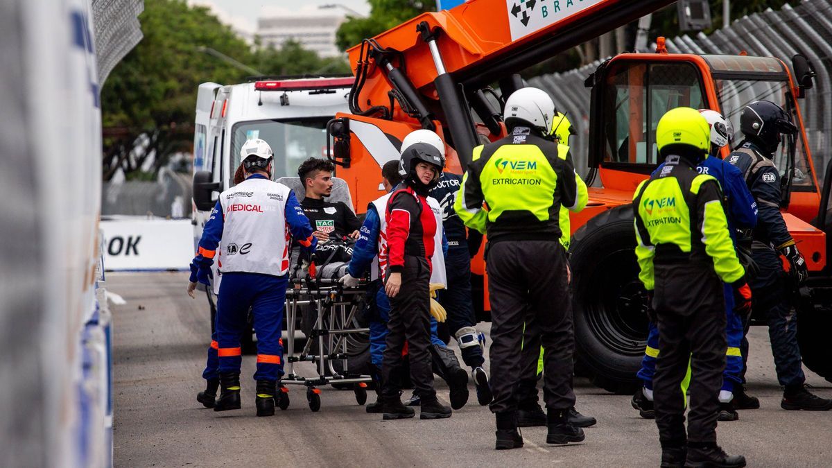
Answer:
[[257, 333], [257, 416], [272, 416], [275, 388], [283, 375], [280, 331], [290, 236], [309, 251], [317, 240], [295, 194], [270, 180], [273, 153], [269, 144], [259, 138], [246, 141], [240, 159], [248, 177], [220, 193], [191, 263], [188, 292], [196, 288], [200, 271], [210, 268], [221, 244], [223, 279], [216, 311], [221, 392], [214, 411], [240, 408], [240, 335], [251, 309]]

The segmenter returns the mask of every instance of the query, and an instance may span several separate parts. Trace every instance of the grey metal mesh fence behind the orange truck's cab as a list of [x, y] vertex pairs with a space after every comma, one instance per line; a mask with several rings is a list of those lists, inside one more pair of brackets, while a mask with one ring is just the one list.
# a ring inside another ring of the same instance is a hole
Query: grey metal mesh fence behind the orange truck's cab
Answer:
[[[817, 73], [815, 87], [806, 91], [799, 105], [820, 181], [832, 160], [832, 2], [807, 0], [796, 7], [785, 5], [777, 12], [769, 9], [742, 17], [711, 35], [700, 32], [695, 37], [667, 39], [666, 46], [671, 53], [735, 55], [745, 51], [752, 56], [780, 58], [789, 67], [795, 53], [809, 58]], [[583, 82], [600, 63], [529, 80], [531, 86], [549, 92], [558, 110], [570, 117], [577, 131], [571, 140], [572, 155], [582, 175], [587, 173], [590, 97]]]

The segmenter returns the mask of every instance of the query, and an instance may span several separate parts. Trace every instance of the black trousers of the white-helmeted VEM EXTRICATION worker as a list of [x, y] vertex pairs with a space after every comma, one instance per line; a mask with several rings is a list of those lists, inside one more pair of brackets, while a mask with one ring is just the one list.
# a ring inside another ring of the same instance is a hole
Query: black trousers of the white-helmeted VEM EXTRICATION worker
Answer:
[[488, 246], [486, 262], [492, 320], [491, 411], [518, 407], [515, 391], [523, 361], [523, 323], [531, 321], [544, 349], [543, 400], [551, 410], [571, 408], [575, 341], [566, 252], [557, 240], [500, 241]]

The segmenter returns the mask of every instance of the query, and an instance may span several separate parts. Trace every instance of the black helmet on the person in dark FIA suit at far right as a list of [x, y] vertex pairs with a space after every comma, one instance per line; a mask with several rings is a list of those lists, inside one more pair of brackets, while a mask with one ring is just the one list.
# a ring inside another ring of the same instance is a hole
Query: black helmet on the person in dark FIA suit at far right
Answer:
[[797, 127], [783, 107], [770, 101], [755, 101], [742, 108], [740, 132], [771, 154], [780, 145], [780, 134], [794, 135]]

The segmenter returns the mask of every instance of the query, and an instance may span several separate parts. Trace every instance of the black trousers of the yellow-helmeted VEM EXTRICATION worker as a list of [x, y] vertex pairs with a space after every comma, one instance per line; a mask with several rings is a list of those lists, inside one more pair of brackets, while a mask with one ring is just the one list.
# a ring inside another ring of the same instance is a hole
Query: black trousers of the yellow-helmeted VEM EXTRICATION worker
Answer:
[[[726, 314], [722, 283], [713, 264], [657, 264], [653, 306], [659, 353], [653, 398], [662, 446], [716, 442], [722, 371], [726, 366]], [[685, 435], [681, 381], [691, 363], [690, 411]]]

